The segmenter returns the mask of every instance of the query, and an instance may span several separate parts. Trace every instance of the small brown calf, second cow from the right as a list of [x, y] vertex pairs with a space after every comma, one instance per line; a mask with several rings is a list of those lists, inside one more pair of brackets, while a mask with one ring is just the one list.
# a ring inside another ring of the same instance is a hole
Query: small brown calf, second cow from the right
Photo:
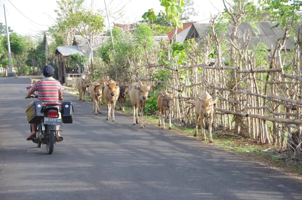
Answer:
[[164, 114], [168, 113], [169, 116], [169, 130], [172, 130], [171, 124], [171, 105], [174, 98], [174, 93], [169, 94], [165, 89], [162, 89], [157, 94], [157, 108], [158, 108], [158, 126], [161, 126], [162, 117], [162, 129], [165, 129], [165, 118]]

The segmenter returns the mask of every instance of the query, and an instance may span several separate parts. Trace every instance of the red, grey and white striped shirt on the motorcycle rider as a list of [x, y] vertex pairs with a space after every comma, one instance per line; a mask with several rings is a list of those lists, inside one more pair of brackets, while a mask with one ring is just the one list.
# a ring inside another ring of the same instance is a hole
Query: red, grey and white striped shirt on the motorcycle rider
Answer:
[[38, 91], [38, 100], [42, 102], [59, 102], [59, 92], [61, 92], [61, 83], [52, 77], [44, 77], [37, 81], [30, 92]]

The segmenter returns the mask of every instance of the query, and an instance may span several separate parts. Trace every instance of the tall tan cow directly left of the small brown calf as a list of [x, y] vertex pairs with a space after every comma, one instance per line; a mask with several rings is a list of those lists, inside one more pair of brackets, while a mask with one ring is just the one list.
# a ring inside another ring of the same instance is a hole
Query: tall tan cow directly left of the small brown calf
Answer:
[[[129, 96], [133, 109], [133, 125], [138, 124], [138, 113], [137, 108], [140, 109], [140, 117], [142, 120], [141, 128], [144, 128], [143, 114], [145, 110], [145, 105], [148, 97], [150, 86], [143, 85], [143, 83], [139, 80], [136, 83], [133, 83], [129, 87]], [[135, 117], [136, 111], [136, 117]]]

